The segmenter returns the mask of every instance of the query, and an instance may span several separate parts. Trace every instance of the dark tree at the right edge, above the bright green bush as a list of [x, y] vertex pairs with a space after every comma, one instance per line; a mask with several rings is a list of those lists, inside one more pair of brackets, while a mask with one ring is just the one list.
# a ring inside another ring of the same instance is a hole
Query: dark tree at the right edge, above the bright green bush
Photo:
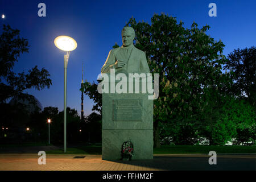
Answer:
[[256, 48], [234, 49], [229, 53], [225, 69], [233, 72], [232, 92], [240, 98], [247, 98], [255, 105], [256, 93]]

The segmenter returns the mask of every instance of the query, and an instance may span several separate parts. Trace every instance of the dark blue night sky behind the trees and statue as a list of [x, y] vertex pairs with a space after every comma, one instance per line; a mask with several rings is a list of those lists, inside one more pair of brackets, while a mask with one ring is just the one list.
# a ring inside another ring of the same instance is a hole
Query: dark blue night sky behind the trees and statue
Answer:
[[[21, 1], [0, 0], [2, 24], [18, 28], [30, 44], [29, 53], [23, 53], [15, 64], [15, 72], [27, 72], [38, 65], [51, 74], [52, 86], [41, 91], [26, 90], [42, 103], [43, 107], [55, 106], [63, 110], [64, 51], [53, 44], [59, 35], [68, 35], [77, 41], [77, 49], [71, 52], [68, 63], [67, 106], [81, 111], [80, 83], [82, 61], [84, 79], [97, 80], [102, 65], [114, 43], [120, 46], [121, 30], [131, 16], [150, 23], [154, 13], [168, 13], [182, 20], [184, 27], [193, 21], [199, 28], [208, 24], [208, 34], [222, 40], [226, 47], [224, 55], [233, 49], [255, 46], [256, 1]], [[38, 16], [38, 4], [46, 4], [46, 17]], [[217, 17], [208, 15], [209, 3], [216, 3]], [[92, 111], [93, 101], [85, 96], [85, 115]]]

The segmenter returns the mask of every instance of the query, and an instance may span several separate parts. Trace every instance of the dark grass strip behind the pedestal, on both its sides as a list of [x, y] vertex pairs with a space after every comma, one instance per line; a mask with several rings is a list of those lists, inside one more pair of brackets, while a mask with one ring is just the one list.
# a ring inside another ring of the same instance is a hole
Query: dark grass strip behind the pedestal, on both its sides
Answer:
[[[208, 154], [212, 150], [216, 151], [217, 154], [256, 153], [256, 146], [161, 146], [154, 148], [154, 154]], [[46, 154], [64, 153], [63, 150], [52, 150], [46, 151]], [[65, 154], [101, 154], [101, 146], [67, 148]]]

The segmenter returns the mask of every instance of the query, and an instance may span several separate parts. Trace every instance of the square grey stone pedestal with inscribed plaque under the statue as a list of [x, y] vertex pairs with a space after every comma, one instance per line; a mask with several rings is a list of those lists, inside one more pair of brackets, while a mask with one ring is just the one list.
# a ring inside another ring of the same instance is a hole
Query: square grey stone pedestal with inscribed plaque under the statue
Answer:
[[102, 159], [121, 159], [129, 139], [132, 159], [153, 159], [153, 100], [146, 93], [102, 93]]

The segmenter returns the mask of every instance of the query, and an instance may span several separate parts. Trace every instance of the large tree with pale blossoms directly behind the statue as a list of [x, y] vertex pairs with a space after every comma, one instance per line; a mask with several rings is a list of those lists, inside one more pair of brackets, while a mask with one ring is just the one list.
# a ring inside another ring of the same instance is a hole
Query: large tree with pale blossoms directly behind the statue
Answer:
[[160, 146], [160, 123], [170, 122], [173, 135], [182, 130], [197, 135], [212, 93], [224, 97], [231, 84], [230, 74], [222, 74], [226, 63], [224, 44], [206, 34], [209, 26], [184, 28], [183, 22], [165, 14], [155, 14], [151, 24], [131, 18], [126, 26], [136, 32], [135, 46], [146, 52], [151, 73], [159, 73], [159, 98], [154, 101], [154, 139]]

